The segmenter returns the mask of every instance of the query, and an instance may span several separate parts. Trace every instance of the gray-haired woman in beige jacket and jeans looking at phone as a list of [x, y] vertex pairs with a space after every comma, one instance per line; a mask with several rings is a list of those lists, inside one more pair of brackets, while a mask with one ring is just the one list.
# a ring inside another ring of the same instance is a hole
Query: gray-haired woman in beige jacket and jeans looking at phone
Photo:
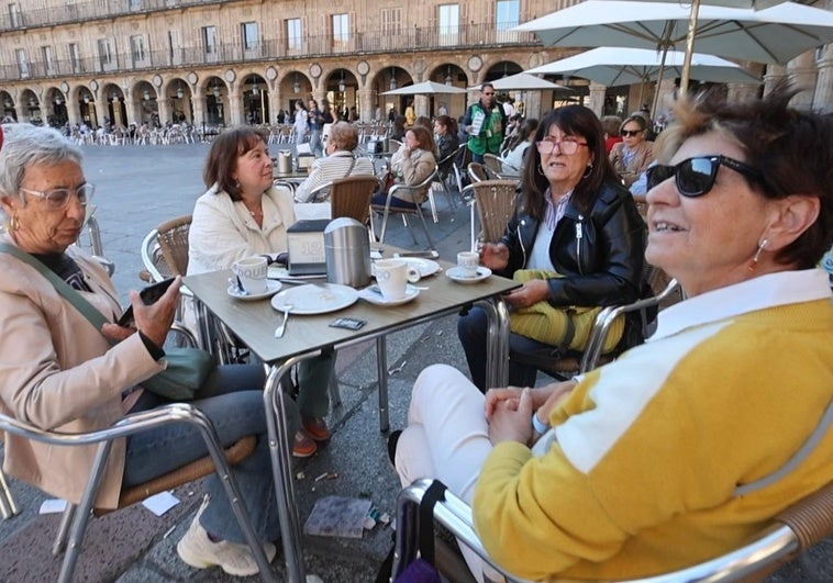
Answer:
[[[0, 253], [0, 412], [43, 429], [76, 434], [104, 429], [127, 413], [168, 404], [142, 383], [165, 369], [163, 345], [181, 282], [177, 279], [153, 305], [145, 305], [132, 291], [135, 324], [115, 324], [122, 309], [112, 281], [97, 261], [73, 245], [95, 192], [84, 176], [81, 150], [48, 127], [14, 124], [4, 130], [0, 204], [5, 234], [0, 240], [40, 260], [111, 323], [97, 329], [35, 268]], [[223, 446], [248, 435], [257, 437], [254, 453], [234, 466], [232, 473], [271, 560], [275, 546], [268, 541], [279, 537], [279, 525], [264, 380], [263, 367], [218, 367], [192, 404], [214, 424]], [[98, 446], [60, 447], [7, 435], [4, 449], [3, 469], [11, 475], [79, 504]], [[122, 489], [206, 456], [199, 430], [187, 424], [119, 439], [95, 507], [116, 508]], [[177, 545], [179, 557], [198, 569], [220, 565], [234, 575], [256, 574], [257, 563], [216, 475], [207, 479], [206, 490], [208, 501]]]

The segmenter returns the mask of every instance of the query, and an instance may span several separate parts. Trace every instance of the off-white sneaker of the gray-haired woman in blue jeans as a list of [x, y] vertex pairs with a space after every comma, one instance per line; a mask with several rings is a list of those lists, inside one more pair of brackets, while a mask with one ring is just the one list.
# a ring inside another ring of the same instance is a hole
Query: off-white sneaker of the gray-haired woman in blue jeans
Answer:
[[[208, 532], [200, 525], [200, 515], [208, 506], [208, 496], [202, 502], [202, 506], [197, 511], [188, 532], [177, 543], [177, 554], [189, 565], [196, 569], [207, 569], [218, 565], [223, 571], [234, 576], [256, 575], [260, 572], [257, 568], [254, 554], [247, 545], [229, 542], [227, 540], [212, 541]], [[275, 558], [276, 549], [271, 542], [264, 542], [264, 552], [266, 560], [271, 562]]]

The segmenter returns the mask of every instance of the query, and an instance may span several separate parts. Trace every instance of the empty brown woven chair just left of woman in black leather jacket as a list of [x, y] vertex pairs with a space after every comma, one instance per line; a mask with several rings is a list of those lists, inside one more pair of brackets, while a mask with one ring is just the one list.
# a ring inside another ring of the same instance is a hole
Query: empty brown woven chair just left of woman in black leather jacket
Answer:
[[470, 195], [471, 248], [476, 248], [477, 222], [480, 222], [480, 240], [498, 243], [507, 229], [515, 209], [518, 182], [514, 180], [484, 180], [473, 182], [463, 189], [464, 199]]

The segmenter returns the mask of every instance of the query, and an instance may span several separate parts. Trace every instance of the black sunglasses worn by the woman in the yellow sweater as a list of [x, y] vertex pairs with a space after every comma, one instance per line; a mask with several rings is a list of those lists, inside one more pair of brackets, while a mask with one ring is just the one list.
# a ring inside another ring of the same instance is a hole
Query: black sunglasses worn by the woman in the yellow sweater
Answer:
[[676, 166], [652, 166], [646, 170], [648, 190], [675, 178], [677, 190], [684, 197], [702, 197], [714, 187], [720, 165], [740, 172], [746, 178], [763, 182], [764, 179], [755, 168], [729, 156], [696, 156], [682, 160]]

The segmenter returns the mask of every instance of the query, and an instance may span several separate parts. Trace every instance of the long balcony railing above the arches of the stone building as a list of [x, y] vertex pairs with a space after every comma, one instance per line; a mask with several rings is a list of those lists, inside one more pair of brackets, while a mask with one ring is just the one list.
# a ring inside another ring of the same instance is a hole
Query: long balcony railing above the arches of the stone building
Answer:
[[[126, 0], [125, 0], [126, 1]], [[164, 2], [165, 0], [154, 0]], [[170, 1], [170, 0], [169, 0]], [[498, 30], [495, 23], [460, 25], [455, 32], [438, 31], [435, 27], [404, 27], [391, 32], [362, 32], [353, 34], [348, 41], [335, 41], [332, 36], [306, 36], [301, 48], [289, 48], [286, 41], [262, 41], [256, 48], [244, 51], [242, 44], [218, 44], [214, 52], [206, 53], [202, 46], [176, 49], [151, 51], [143, 59], [134, 59], [130, 54], [116, 54], [108, 63], [97, 56], [75, 61], [52, 60], [30, 61], [27, 75], [22, 75], [16, 65], [0, 66], [0, 80], [66, 78], [93, 74], [142, 71], [171, 67], [199, 67], [218, 63], [245, 63], [256, 60], [291, 60], [299, 58], [329, 57], [355, 54], [384, 54], [404, 51], [445, 51], [490, 48], [499, 46], [524, 46], [538, 44], [529, 33]]]

